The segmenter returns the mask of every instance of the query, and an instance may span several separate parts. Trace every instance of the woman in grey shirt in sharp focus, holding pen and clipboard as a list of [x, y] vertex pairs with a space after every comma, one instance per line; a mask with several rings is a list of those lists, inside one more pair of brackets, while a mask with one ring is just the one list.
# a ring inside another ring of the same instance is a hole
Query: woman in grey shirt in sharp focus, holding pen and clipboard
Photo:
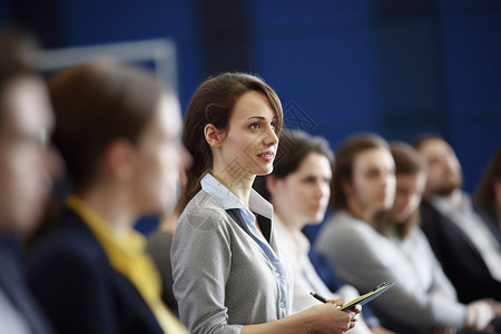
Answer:
[[283, 112], [263, 80], [224, 73], [195, 92], [183, 143], [193, 157], [171, 247], [174, 294], [190, 333], [344, 333], [360, 308], [333, 303], [289, 316], [291, 281], [273, 208], [252, 190], [272, 171]]

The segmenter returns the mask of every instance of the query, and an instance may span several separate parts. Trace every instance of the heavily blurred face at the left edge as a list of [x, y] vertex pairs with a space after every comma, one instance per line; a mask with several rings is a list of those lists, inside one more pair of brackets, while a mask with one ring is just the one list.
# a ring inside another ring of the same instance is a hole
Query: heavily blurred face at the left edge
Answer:
[[0, 225], [2, 229], [28, 232], [43, 212], [56, 170], [56, 155], [47, 147], [53, 119], [41, 80], [16, 79], [3, 94]]

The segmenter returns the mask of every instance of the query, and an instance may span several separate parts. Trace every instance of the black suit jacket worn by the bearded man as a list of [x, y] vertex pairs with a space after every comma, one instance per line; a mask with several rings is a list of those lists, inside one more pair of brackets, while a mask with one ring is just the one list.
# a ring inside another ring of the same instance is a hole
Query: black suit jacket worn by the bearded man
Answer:
[[421, 204], [421, 218], [422, 229], [460, 302], [484, 297], [501, 301], [501, 283], [492, 278], [480, 253], [462, 229], [426, 200]]

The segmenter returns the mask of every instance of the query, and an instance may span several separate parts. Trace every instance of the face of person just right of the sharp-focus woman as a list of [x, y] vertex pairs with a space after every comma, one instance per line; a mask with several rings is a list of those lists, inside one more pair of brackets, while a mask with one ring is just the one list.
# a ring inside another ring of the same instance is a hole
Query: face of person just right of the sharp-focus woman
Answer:
[[285, 224], [301, 229], [321, 223], [331, 196], [331, 163], [318, 153], [310, 153], [294, 173], [276, 179], [272, 193], [275, 210]]

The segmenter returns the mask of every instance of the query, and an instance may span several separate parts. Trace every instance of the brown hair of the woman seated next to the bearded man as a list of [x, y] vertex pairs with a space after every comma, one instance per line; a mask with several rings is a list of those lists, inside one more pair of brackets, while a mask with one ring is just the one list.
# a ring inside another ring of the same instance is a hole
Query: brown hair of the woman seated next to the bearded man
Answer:
[[[399, 175], [415, 175], [423, 173], [425, 175], [425, 165], [423, 158], [421, 158], [418, 150], [411, 145], [402, 141], [390, 143], [390, 150], [395, 160], [395, 176]], [[414, 225], [421, 224], [421, 216], [419, 209], [416, 209], [407, 222], [399, 225], [394, 225], [391, 222], [391, 213], [387, 212], [376, 222], [376, 229], [386, 235], [392, 226], [395, 227], [396, 234], [401, 239], [404, 239], [411, 232]]]

